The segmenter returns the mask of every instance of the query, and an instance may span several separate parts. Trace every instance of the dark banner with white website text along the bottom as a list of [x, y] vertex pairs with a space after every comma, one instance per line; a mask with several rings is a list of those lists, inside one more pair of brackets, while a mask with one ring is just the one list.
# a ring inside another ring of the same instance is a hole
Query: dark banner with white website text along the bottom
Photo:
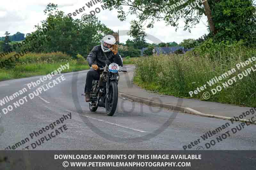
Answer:
[[255, 151], [0, 151], [0, 169], [255, 169]]

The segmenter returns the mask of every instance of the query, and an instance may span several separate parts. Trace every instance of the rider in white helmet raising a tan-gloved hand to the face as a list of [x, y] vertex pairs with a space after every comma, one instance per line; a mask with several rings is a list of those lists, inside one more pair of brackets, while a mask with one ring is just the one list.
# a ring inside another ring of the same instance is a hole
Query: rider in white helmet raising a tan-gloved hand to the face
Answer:
[[86, 76], [84, 87], [85, 102], [90, 101], [92, 80], [100, 79], [100, 68], [110, 63], [116, 63], [123, 67], [123, 59], [118, 54], [118, 46], [115, 43], [116, 39], [113, 35], [106, 35], [102, 38], [101, 44], [93, 47], [91, 53], [87, 56], [87, 62], [93, 69], [89, 70]]

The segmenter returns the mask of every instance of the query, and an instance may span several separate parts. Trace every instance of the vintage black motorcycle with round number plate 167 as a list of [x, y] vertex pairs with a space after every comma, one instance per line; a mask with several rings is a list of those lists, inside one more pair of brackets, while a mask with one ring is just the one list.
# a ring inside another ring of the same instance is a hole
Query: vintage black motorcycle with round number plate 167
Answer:
[[127, 73], [126, 70], [120, 70], [116, 63], [100, 68], [100, 79], [92, 81], [90, 111], [95, 112], [98, 107], [105, 107], [108, 116], [114, 115], [118, 102], [118, 72]]

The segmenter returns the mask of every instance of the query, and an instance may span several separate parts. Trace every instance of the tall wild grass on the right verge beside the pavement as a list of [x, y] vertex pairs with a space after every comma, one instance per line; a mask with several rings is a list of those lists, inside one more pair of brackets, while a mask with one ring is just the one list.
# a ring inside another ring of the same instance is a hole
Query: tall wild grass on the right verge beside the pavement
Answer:
[[[237, 79], [233, 85], [224, 89], [222, 83], [236, 76], [256, 64], [251, 63], [246, 68], [238, 70], [236, 64], [256, 56], [256, 49], [245, 48], [241, 45], [217, 44], [218, 48], [212, 51], [199, 53], [199, 56], [192, 55], [159, 55], [143, 57], [136, 63], [134, 82], [143, 88], [176, 97], [189, 97], [190, 91], [206, 84], [206, 89], [193, 94], [192, 98], [205, 100], [202, 96], [204, 92], [210, 92], [208, 101], [231, 103], [242, 106], [256, 106], [256, 72], [252, 72], [243, 79]], [[216, 49], [218, 49], [216, 51]], [[223, 73], [235, 68], [236, 72], [224, 80], [209, 86], [207, 81], [219, 77]], [[211, 89], [217, 85], [222, 86], [222, 90], [216, 94], [211, 93]]]

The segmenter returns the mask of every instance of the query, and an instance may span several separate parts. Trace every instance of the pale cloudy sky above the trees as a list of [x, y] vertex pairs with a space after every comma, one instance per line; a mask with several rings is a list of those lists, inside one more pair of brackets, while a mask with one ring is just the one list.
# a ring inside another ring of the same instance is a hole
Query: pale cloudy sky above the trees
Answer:
[[[91, 0], [90, 0], [91, 1]], [[44, 15], [44, 9], [48, 3], [58, 4], [59, 10], [64, 11], [65, 14], [73, 13], [79, 8], [85, 6], [85, 11], [79, 12], [73, 18], [81, 18], [82, 14], [89, 14], [90, 11], [95, 10], [99, 7], [101, 9], [100, 13], [96, 16], [99, 20], [104, 23], [108, 28], [117, 32], [118, 30], [128, 30], [130, 28], [130, 21], [134, 19], [134, 16], [128, 16], [127, 20], [121, 22], [117, 18], [117, 11], [102, 10], [101, 4], [95, 4], [93, 7], [88, 8], [85, 4], [90, 2], [89, 0], [4, 0], [4, 3], [0, 6], [0, 36], [4, 36], [5, 31], [9, 31], [11, 35], [17, 33], [31, 33], [35, 31], [35, 25], [40, 24], [42, 20], [46, 18]], [[180, 21], [180, 23], [183, 23]], [[164, 21], [156, 22], [154, 28], [146, 28], [146, 33], [153, 37], [158, 38], [163, 42], [175, 41], [180, 43], [183, 39], [194, 38], [197, 39], [201, 37], [204, 33], [208, 33], [207, 28], [207, 18], [204, 17], [200, 23], [193, 29], [191, 33], [188, 31], [183, 31], [183, 28], [175, 32], [175, 28], [172, 26], [165, 26]], [[182, 24], [181, 24], [182, 26]], [[129, 36], [120, 36], [120, 41], [125, 42]], [[151, 42], [148, 40], [148, 42]]]

